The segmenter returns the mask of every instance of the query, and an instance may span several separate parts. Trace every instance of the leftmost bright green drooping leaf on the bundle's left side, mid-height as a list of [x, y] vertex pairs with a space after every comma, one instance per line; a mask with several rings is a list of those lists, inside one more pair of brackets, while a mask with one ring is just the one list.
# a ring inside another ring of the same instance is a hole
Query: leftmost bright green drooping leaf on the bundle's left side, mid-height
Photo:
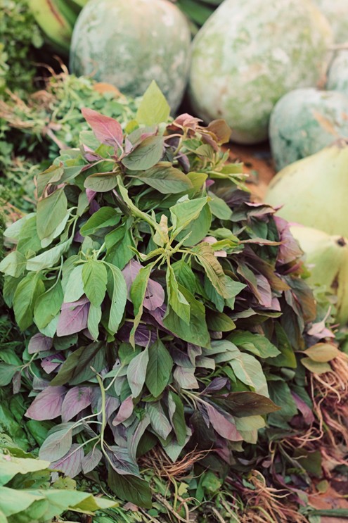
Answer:
[[20, 330], [24, 331], [32, 324], [34, 304], [44, 291], [44, 282], [39, 272], [30, 272], [18, 284], [13, 296], [13, 310]]

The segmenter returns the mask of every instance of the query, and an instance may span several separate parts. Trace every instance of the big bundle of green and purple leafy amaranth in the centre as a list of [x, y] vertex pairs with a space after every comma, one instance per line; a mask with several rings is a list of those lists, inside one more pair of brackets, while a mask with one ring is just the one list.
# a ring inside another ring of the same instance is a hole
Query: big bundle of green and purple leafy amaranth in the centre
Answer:
[[[197, 452], [218, 470], [265, 415], [287, 427], [304, 403], [287, 384], [295, 351], [324, 327], [307, 333], [316, 305], [297, 244], [250, 202], [222, 120], [168, 123], [155, 84], [125, 130], [82, 113], [92, 131], [38, 176], [37, 212], [6, 231], [4, 299], [30, 337], [26, 415], [62, 421], [39, 457], [70, 477], [102, 462], [112, 491], [148, 508], [148, 450]], [[0, 374], [20, 390], [18, 365]]]

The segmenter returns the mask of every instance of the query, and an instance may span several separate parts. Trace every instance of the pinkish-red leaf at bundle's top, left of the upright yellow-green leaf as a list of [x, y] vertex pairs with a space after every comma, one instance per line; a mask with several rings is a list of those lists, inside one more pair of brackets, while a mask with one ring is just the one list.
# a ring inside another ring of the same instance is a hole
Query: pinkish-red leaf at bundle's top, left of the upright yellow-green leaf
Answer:
[[88, 108], [82, 108], [82, 115], [91, 130], [96, 135], [96, 139], [102, 144], [120, 147], [122, 145], [123, 133], [122, 127], [110, 116], [101, 115], [97, 111]]

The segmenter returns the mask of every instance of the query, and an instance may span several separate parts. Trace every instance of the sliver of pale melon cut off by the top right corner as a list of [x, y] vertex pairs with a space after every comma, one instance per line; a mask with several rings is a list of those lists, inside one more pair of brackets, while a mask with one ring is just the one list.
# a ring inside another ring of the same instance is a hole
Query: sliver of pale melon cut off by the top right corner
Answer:
[[348, 42], [348, 1], [347, 0], [314, 0], [333, 28], [336, 44]]

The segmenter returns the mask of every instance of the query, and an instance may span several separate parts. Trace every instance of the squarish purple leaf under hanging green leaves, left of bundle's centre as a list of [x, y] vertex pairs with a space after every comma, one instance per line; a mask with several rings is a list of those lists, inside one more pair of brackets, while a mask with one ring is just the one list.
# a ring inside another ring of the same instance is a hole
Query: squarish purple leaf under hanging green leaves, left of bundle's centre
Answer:
[[57, 336], [68, 336], [86, 329], [89, 305], [86, 297], [72, 303], [63, 303], [58, 319]]

